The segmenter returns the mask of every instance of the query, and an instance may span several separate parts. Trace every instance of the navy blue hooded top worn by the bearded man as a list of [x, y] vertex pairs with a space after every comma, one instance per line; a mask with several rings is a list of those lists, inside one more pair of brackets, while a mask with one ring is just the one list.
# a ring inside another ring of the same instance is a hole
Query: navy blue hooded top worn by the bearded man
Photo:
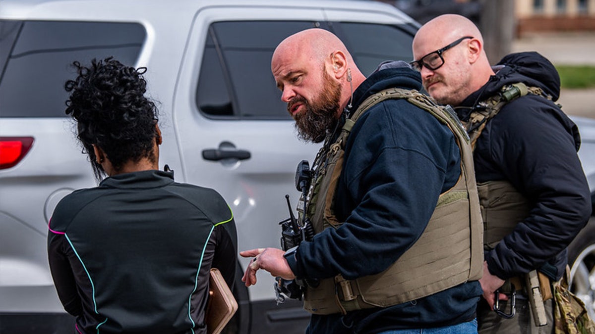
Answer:
[[[421, 78], [411, 68], [377, 71], [354, 92], [352, 111], [390, 87], [419, 90]], [[460, 160], [452, 132], [427, 111], [402, 99], [373, 106], [346, 143], [335, 212], [345, 223], [300, 244], [296, 257], [288, 259], [297, 278], [341, 273], [354, 279], [387, 269], [418, 240], [440, 193], [455, 185]], [[377, 333], [458, 324], [474, 318], [480, 295], [474, 281], [392, 307], [345, 316], [314, 314], [307, 332]]]

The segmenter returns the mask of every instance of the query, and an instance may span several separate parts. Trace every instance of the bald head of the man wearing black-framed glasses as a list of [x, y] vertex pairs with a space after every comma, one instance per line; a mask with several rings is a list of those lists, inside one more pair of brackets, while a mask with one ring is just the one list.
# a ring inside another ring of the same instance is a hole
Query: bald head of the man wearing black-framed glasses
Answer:
[[461, 15], [428, 21], [415, 34], [412, 47], [415, 61], [424, 64], [420, 72], [425, 90], [443, 104], [459, 105], [494, 74], [480, 30]]

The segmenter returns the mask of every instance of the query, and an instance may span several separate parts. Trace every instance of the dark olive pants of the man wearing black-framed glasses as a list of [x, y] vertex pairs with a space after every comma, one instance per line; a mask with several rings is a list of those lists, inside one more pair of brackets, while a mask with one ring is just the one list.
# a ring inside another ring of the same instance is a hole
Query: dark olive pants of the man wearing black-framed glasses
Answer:
[[[500, 301], [500, 308], [510, 313], [508, 301]], [[547, 314], [547, 325], [536, 327], [533, 323], [533, 314], [529, 307], [529, 301], [525, 298], [516, 299], [516, 315], [512, 319], [504, 319], [490, 310], [485, 300], [477, 305], [477, 330], [479, 334], [553, 334], [553, 300], [545, 303]]]

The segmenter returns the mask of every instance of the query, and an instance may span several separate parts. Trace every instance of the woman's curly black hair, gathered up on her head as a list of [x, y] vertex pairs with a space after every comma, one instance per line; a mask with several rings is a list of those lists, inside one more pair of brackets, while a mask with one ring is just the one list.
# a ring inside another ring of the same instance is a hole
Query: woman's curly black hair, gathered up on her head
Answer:
[[128, 67], [113, 57], [93, 59], [89, 67], [78, 61], [73, 66], [78, 76], [64, 85], [70, 92], [66, 114], [77, 122], [77, 138], [89, 155], [95, 177], [102, 179], [105, 171], [96, 162], [93, 144], [105, 152], [115, 171], [143, 157], [156, 162], [158, 111], [144, 96], [146, 68]]

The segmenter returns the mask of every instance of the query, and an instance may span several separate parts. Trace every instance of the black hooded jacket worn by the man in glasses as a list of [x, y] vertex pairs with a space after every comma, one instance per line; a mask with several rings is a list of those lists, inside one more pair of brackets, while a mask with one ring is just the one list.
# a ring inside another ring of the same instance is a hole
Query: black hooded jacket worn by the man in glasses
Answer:
[[[468, 119], [469, 107], [494, 96], [505, 84], [522, 82], [540, 87], [553, 101], [559, 97], [558, 72], [536, 52], [505, 56], [494, 72], [455, 108], [459, 118]], [[509, 181], [530, 203], [530, 215], [485, 254], [493, 275], [507, 279], [540, 269], [552, 279], [562, 276], [566, 247], [591, 215], [579, 147], [577, 126], [541, 96], [512, 100], [487, 122], [474, 152], [477, 182]]]

